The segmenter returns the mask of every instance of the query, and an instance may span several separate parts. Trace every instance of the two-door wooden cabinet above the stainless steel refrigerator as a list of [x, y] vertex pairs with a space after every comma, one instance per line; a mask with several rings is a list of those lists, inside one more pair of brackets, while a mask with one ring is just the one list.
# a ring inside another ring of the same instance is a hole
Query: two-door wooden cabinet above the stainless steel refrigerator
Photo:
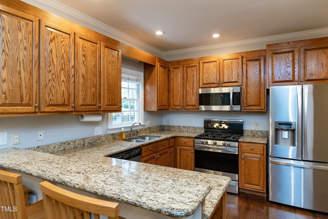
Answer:
[[269, 86], [328, 83], [328, 37], [267, 45]]

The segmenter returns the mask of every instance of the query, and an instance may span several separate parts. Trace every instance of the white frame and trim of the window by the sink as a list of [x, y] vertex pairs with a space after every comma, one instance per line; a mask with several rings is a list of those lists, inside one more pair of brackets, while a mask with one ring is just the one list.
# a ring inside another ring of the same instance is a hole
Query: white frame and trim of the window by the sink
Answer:
[[[139, 104], [139, 112], [138, 112], [138, 118], [139, 121], [135, 121], [135, 122], [129, 122], [129, 123], [118, 123], [113, 124], [112, 120], [113, 120], [113, 113], [108, 113], [108, 125], [107, 125], [107, 129], [108, 130], [113, 130], [113, 129], [121, 129], [121, 128], [127, 128], [130, 127], [133, 123], [141, 123], [142, 125], [145, 125], [145, 121], [144, 121], [144, 72], [139, 72], [139, 71], [135, 71], [135, 70], [131, 70], [131, 69], [127, 69], [127, 68], [122, 68], [122, 77], [132, 77], [132, 78], [137, 78], [136, 82], [137, 84], [139, 84], [139, 101], [137, 104]], [[121, 80], [121, 82], [124, 81], [124, 79]], [[129, 81], [128, 81], [129, 82]], [[133, 81], [130, 81], [133, 83]], [[121, 88], [122, 90], [122, 88]], [[121, 98], [121, 101], [123, 101], [124, 98]], [[127, 100], [130, 100], [130, 98], [127, 98]], [[121, 110], [121, 112], [124, 112]], [[130, 112], [130, 111], [127, 111]]]

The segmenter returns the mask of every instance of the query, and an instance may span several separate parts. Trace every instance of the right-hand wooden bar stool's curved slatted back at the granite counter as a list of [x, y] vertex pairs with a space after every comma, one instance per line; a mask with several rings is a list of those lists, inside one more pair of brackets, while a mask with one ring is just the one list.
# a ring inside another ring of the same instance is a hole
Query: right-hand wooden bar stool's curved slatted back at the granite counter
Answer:
[[47, 181], [40, 183], [40, 188], [47, 219], [90, 219], [90, 213], [93, 213], [95, 219], [99, 219], [99, 215], [109, 219], [125, 219], [118, 215], [117, 203], [80, 195]]

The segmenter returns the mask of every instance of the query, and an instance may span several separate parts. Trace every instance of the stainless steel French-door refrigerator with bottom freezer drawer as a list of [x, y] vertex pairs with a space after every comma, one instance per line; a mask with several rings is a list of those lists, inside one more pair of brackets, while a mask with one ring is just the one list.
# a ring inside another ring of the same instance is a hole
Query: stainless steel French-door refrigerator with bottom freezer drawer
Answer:
[[270, 87], [269, 200], [328, 212], [328, 85]]

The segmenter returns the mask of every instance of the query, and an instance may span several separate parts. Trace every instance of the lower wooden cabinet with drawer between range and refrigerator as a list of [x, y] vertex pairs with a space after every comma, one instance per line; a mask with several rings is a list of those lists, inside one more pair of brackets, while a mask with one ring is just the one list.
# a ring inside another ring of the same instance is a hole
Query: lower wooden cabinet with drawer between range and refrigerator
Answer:
[[266, 192], [267, 145], [239, 144], [239, 188]]

